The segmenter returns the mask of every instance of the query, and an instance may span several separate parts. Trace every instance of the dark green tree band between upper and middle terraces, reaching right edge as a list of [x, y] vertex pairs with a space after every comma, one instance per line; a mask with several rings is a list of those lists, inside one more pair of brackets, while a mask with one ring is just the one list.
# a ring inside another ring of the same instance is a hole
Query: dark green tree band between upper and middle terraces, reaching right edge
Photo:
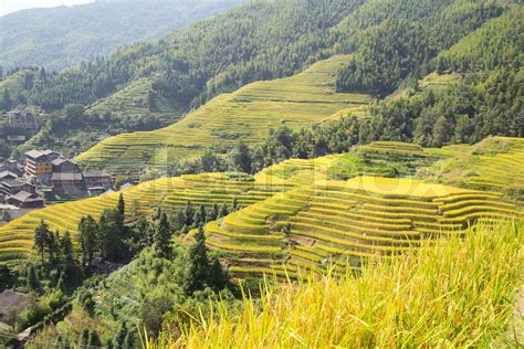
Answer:
[[490, 135], [524, 136], [522, 76], [514, 70], [470, 75], [441, 89], [419, 91], [410, 97], [382, 102], [369, 117], [345, 116], [302, 128], [270, 130], [265, 140], [243, 149], [239, 169], [258, 172], [289, 158], [317, 158], [346, 152], [375, 140], [416, 142], [423, 147], [474, 144]]

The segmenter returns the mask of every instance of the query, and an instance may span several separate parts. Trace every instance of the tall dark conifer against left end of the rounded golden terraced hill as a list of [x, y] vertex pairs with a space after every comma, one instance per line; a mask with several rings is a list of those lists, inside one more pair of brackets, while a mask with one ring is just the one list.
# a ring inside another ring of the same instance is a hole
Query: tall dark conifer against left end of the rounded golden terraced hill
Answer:
[[206, 247], [206, 235], [202, 224], [198, 228], [195, 240], [196, 243], [189, 250], [189, 268], [185, 282], [185, 288], [188, 295], [191, 295], [196, 290], [203, 289], [209, 271], [208, 248]]

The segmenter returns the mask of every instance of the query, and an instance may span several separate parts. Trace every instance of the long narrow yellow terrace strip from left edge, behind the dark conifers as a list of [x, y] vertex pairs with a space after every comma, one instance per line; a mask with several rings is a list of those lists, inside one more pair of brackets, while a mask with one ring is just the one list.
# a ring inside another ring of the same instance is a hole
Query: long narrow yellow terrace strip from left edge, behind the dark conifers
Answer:
[[[260, 174], [201, 173], [158, 179], [123, 191], [127, 214], [137, 209], [150, 212], [154, 207], [166, 209], [193, 204], [231, 204], [233, 198], [240, 205], [265, 200], [276, 193], [291, 190], [303, 182], [325, 178], [327, 167], [337, 156], [316, 160], [287, 160], [268, 168]], [[282, 178], [280, 171], [291, 173]], [[274, 173], [273, 173], [274, 172]], [[0, 228], [0, 262], [21, 258], [31, 252], [34, 229], [44, 220], [50, 229], [75, 233], [82, 216], [97, 219], [105, 209], [114, 208], [119, 193], [51, 205], [10, 222]]]

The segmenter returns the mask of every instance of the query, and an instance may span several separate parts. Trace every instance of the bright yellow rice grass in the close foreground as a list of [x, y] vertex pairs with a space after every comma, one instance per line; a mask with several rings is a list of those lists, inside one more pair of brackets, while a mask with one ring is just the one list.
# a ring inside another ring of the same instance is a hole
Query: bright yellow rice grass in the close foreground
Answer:
[[[266, 285], [241, 314], [214, 309], [180, 338], [148, 348], [518, 347], [512, 328], [522, 288], [524, 222], [471, 229], [361, 275]], [[522, 343], [521, 343], [522, 345]]]

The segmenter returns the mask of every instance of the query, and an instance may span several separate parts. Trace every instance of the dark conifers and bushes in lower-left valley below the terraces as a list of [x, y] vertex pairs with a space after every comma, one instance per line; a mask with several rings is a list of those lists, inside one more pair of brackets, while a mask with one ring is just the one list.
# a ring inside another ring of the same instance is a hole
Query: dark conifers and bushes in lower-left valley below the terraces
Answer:
[[[195, 207], [187, 202], [185, 207], [175, 210], [158, 208], [150, 216], [132, 207], [124, 220], [126, 207], [124, 197], [120, 195], [116, 207], [105, 210], [98, 220], [90, 215], [81, 220], [77, 235], [80, 257], [74, 253], [67, 232], [63, 235], [52, 233], [49, 225], [42, 221], [34, 232], [34, 248], [39, 263], [30, 264], [27, 275], [28, 287], [38, 292], [40, 296], [28, 311], [21, 315], [20, 328], [42, 321], [51, 316], [52, 311], [71, 302], [66, 295], [77, 289], [75, 287], [78, 283], [64, 287], [65, 272], [57, 269], [59, 266], [74, 267], [75, 269], [71, 272], [76, 273], [82, 281], [84, 276], [92, 275], [90, 271], [96, 257], [111, 262], [125, 262], [134, 256], [138, 265], [147, 263], [148, 266], [133, 273], [149, 275], [138, 277], [135, 282], [138, 284], [134, 285], [137, 288], [148, 289], [140, 293], [144, 297], [139, 298], [143, 306], [140, 314], [135, 316], [140, 316], [149, 335], [155, 335], [161, 329], [164, 315], [169, 316], [169, 326], [174, 325], [171, 321], [189, 321], [188, 314], [198, 315], [199, 307], [209, 306], [214, 293], [224, 288], [234, 289], [229, 282], [229, 273], [222, 267], [219, 258], [208, 253], [203, 225], [238, 209], [235, 199], [230, 205]], [[174, 242], [174, 233], [187, 233], [192, 229], [196, 229], [192, 245], [182, 247]], [[157, 276], [153, 277], [150, 274]], [[55, 281], [56, 278], [59, 281]], [[81, 286], [74, 298], [91, 317], [98, 316], [94, 311], [93, 300], [93, 287], [96, 283], [96, 277], [93, 282], [84, 282], [84, 286]], [[116, 310], [113, 309], [112, 314], [115, 314], [114, 311]], [[113, 321], [120, 324], [113, 337], [101, 338], [99, 329], [84, 328], [80, 335], [69, 334], [56, 338], [56, 343], [62, 347], [78, 345], [134, 348], [137, 332], [126, 327], [126, 318], [115, 317]]]

